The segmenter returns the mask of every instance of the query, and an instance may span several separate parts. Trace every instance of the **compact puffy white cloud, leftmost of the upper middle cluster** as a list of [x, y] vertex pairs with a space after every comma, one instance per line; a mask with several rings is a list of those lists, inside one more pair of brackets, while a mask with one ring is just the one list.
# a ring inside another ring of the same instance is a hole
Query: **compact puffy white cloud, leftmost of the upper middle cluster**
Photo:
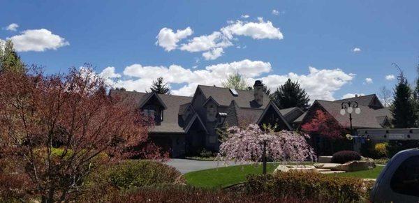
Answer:
[[191, 36], [193, 33], [190, 27], [187, 27], [183, 30], [177, 30], [176, 33], [172, 29], [164, 27], [159, 31], [159, 34], [156, 36], [157, 41], [156, 45], [159, 45], [164, 48], [167, 52], [175, 50], [179, 40], [182, 40], [188, 36]]

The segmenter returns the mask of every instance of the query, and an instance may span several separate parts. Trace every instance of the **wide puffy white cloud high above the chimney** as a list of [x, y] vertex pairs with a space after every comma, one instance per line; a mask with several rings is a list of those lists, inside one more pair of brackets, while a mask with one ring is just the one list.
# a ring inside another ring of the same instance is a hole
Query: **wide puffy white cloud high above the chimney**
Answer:
[[242, 22], [237, 20], [227, 27], [221, 28], [221, 32], [227, 38], [231, 39], [233, 36], [249, 36], [253, 39], [278, 39], [284, 38], [279, 28], [274, 27], [272, 22], [263, 21], [263, 18], [258, 18], [259, 22]]

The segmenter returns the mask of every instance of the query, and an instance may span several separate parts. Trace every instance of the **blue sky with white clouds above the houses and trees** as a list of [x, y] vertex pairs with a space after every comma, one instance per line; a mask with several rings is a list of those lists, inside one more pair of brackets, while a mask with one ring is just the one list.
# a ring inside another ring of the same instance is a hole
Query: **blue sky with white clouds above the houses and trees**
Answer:
[[46, 74], [89, 63], [114, 87], [173, 94], [227, 75], [271, 90], [291, 78], [311, 100], [392, 89], [418, 77], [419, 1], [7, 1], [0, 40]]

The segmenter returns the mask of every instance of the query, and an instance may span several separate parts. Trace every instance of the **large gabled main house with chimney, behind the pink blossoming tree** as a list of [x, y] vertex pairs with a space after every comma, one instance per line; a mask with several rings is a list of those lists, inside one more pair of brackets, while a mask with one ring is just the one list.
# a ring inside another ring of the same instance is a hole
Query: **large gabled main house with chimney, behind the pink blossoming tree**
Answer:
[[149, 137], [170, 151], [172, 157], [193, 154], [201, 149], [218, 151], [220, 126], [246, 126], [263, 123], [293, 130], [291, 121], [304, 112], [300, 108], [279, 110], [256, 80], [253, 90], [198, 85], [192, 97], [112, 90], [123, 105], [152, 116]]

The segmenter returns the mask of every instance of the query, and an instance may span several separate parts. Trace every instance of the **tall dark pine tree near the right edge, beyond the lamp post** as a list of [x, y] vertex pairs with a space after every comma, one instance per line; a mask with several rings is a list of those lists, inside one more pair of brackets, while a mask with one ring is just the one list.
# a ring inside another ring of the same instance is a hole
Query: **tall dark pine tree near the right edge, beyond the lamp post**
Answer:
[[392, 112], [392, 125], [395, 128], [413, 128], [416, 127], [418, 116], [415, 114], [415, 105], [409, 83], [403, 72], [400, 71], [397, 77], [399, 83], [394, 91], [395, 98], [390, 108]]

